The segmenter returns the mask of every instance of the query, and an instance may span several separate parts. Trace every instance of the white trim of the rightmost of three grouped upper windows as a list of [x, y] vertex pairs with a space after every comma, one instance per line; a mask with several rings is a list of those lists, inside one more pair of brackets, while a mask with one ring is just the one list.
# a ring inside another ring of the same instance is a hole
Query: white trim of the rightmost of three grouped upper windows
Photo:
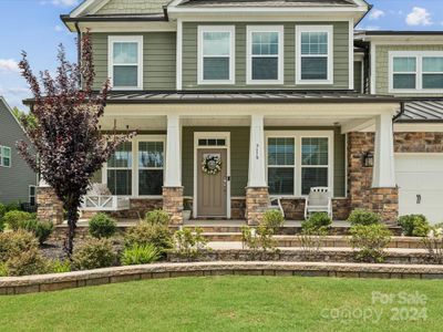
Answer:
[[[327, 80], [301, 80], [301, 56], [317, 58], [324, 55], [301, 55], [302, 32], [328, 33], [328, 79]], [[333, 84], [333, 25], [296, 25], [296, 84]]]

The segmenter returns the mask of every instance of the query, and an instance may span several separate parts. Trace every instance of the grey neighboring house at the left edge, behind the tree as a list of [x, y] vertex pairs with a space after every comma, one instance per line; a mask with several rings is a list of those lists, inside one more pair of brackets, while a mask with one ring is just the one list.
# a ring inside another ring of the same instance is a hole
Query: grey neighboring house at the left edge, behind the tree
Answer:
[[37, 175], [19, 155], [19, 141], [29, 142], [11, 107], [0, 96], [0, 203], [34, 206]]

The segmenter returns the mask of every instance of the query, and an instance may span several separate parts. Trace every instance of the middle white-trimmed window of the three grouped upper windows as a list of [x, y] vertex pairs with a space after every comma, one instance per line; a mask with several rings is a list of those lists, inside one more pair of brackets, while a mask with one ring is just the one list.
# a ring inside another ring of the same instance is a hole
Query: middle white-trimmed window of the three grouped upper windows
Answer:
[[247, 27], [247, 84], [284, 84], [284, 27]]

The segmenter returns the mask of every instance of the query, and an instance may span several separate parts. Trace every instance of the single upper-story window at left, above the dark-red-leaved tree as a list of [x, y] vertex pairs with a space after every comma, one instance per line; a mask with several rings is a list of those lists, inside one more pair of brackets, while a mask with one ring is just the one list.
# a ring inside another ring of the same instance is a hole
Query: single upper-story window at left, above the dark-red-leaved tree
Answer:
[[142, 35], [110, 35], [109, 76], [114, 90], [143, 89]]

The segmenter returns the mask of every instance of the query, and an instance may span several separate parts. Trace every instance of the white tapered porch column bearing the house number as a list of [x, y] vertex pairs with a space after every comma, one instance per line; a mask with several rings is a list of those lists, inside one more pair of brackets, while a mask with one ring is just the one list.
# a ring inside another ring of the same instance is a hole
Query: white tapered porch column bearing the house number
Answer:
[[265, 124], [262, 115], [250, 118], [248, 187], [267, 187], [265, 155]]

